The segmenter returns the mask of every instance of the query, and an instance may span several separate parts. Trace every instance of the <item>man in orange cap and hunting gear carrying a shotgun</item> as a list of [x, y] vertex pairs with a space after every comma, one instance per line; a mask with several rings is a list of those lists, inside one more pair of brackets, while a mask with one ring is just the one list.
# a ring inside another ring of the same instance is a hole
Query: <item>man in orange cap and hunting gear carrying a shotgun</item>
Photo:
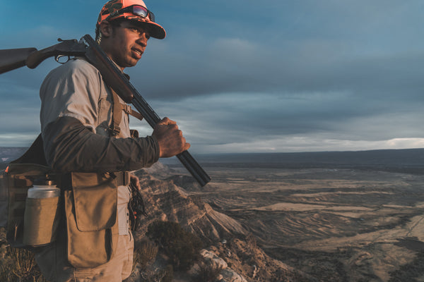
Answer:
[[[96, 25], [96, 41], [122, 70], [136, 66], [148, 39], [165, 38], [142, 0], [111, 0]], [[128, 171], [189, 149], [164, 118], [144, 138], [130, 137], [128, 107], [81, 58], [47, 75], [40, 87], [47, 163], [57, 171], [64, 213], [57, 240], [35, 257], [49, 281], [122, 281], [131, 274]]]

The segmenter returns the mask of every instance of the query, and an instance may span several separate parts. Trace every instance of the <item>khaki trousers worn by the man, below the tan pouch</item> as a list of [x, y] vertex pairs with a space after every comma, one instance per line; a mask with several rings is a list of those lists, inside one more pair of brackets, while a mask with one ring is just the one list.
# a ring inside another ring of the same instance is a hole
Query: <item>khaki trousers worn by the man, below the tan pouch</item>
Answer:
[[134, 238], [119, 235], [116, 252], [106, 264], [95, 268], [76, 269], [66, 259], [66, 244], [58, 238], [50, 247], [35, 253], [35, 259], [42, 274], [50, 282], [120, 282], [131, 275]]

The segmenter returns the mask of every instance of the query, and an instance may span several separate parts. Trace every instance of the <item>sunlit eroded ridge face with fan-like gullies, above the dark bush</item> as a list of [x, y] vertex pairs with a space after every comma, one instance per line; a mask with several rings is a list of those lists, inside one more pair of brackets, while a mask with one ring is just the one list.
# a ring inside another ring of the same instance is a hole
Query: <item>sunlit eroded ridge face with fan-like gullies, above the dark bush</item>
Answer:
[[139, 234], [146, 233], [147, 226], [160, 219], [180, 223], [209, 244], [247, 235], [248, 231], [238, 221], [214, 211], [209, 204], [202, 202], [201, 197], [190, 195], [175, 185], [174, 178], [160, 180], [146, 170], [137, 171], [136, 175], [141, 180], [141, 193], [148, 214], [141, 221]]

